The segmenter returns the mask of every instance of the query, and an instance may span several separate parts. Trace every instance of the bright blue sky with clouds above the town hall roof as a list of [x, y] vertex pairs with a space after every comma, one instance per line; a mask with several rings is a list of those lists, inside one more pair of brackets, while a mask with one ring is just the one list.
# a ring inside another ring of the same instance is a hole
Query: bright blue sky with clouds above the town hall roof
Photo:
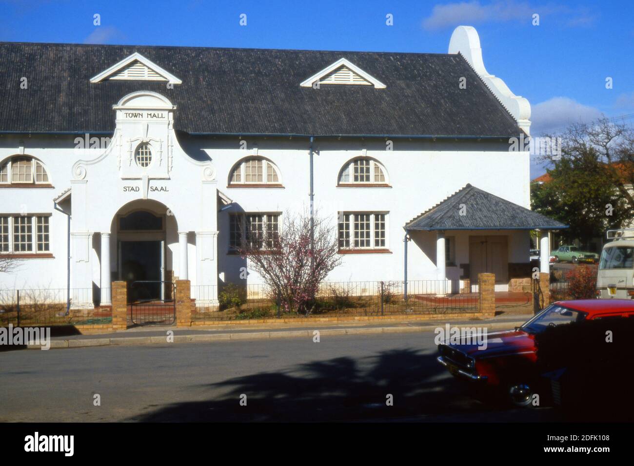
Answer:
[[489, 73], [530, 101], [537, 136], [634, 114], [633, 19], [631, 0], [0, 0], [0, 41], [446, 53], [472, 25]]

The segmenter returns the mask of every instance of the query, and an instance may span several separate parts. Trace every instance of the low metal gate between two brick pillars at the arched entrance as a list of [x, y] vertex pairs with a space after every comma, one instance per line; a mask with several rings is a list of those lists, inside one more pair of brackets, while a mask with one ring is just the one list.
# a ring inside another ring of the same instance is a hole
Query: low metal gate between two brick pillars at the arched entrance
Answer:
[[138, 280], [128, 287], [135, 325], [172, 325], [176, 321], [176, 286], [161, 280]]

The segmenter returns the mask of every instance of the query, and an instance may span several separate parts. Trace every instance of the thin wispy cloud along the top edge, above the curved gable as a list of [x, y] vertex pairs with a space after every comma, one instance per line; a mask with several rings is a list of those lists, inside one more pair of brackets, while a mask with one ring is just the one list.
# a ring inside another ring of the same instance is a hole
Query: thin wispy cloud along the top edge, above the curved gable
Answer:
[[594, 17], [583, 8], [572, 10], [567, 6], [536, 6], [526, 2], [493, 1], [482, 4], [478, 0], [460, 3], [437, 4], [432, 9], [432, 14], [425, 18], [423, 27], [428, 30], [442, 29], [444, 27], [456, 27], [461, 24], [481, 24], [491, 22], [521, 21], [531, 24], [533, 14], [541, 16], [559, 13], [565, 18], [567, 26], [589, 25]]

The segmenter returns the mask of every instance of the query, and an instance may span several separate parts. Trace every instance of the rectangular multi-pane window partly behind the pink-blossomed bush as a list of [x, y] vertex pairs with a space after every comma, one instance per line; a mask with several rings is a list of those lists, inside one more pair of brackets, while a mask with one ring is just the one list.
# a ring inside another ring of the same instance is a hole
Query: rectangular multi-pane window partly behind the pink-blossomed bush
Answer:
[[230, 214], [229, 248], [273, 249], [278, 240], [280, 214]]

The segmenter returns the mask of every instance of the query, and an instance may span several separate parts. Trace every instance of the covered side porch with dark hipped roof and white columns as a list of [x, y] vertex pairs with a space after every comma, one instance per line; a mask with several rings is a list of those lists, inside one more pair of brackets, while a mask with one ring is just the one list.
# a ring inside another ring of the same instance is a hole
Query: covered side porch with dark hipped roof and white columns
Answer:
[[[548, 273], [548, 231], [562, 228], [567, 226], [467, 184], [404, 226], [405, 281], [415, 269], [408, 263], [413, 243], [435, 266], [429, 278], [446, 283], [439, 294], [477, 290], [480, 273], [495, 274], [496, 291], [512, 292], [534, 268]], [[529, 258], [531, 230], [541, 234], [538, 264]]]

